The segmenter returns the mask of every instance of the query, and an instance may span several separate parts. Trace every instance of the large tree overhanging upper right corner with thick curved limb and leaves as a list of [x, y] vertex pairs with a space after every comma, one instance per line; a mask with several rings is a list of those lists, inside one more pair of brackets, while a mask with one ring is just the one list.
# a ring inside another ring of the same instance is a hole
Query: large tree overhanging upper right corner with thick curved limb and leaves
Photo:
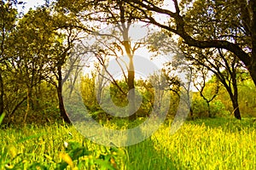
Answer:
[[[244, 1], [181, 1], [173, 0], [174, 12], [149, 0], [127, 0], [139, 10], [140, 20], [183, 38], [197, 48], [219, 48], [230, 51], [246, 65], [256, 85], [256, 2]], [[236, 8], [236, 10], [234, 10]], [[156, 20], [154, 14], [165, 15], [168, 21]], [[147, 12], [146, 12], [147, 11]], [[138, 18], [135, 16], [135, 18]], [[214, 32], [208, 34], [208, 31]]]

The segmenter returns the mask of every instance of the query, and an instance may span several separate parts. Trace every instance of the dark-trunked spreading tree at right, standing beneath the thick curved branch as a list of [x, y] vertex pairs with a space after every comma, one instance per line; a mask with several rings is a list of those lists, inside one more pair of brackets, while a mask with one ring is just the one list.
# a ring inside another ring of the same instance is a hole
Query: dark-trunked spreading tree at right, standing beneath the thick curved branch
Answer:
[[[236, 56], [232, 56], [229, 51], [216, 49], [216, 48], [195, 48], [189, 47], [189, 45], [179, 42], [179, 49], [175, 49], [175, 42], [168, 41], [168, 38], [161, 36], [160, 42], [166, 42], [166, 45], [163, 47], [158, 47], [158, 50], [162, 51], [162, 53], [173, 53], [173, 50], [180, 50], [180, 53], [183, 53], [183, 58], [186, 62], [189, 62], [189, 67], [191, 70], [191, 75], [193, 75], [194, 82], [196, 79], [201, 78], [203, 83], [201, 84], [204, 87], [204, 83], [206, 81], [206, 74], [203, 72], [204, 70], [211, 71], [221, 82], [230, 95], [230, 99], [233, 105], [234, 115], [237, 119], [241, 119], [241, 114], [239, 110], [238, 104], [238, 91], [237, 91], [237, 73], [239, 71], [243, 71], [243, 65], [239, 62], [239, 59]], [[161, 43], [162, 44], [162, 43]], [[151, 48], [156, 49], [156, 47], [151, 45]], [[180, 58], [174, 59], [176, 62], [180, 62]], [[173, 62], [173, 61], [172, 61]], [[174, 67], [174, 69], [176, 69]], [[199, 74], [199, 73], [202, 74]], [[200, 90], [200, 91], [201, 91]], [[201, 91], [201, 96], [202, 94]], [[212, 96], [214, 99], [215, 95]], [[212, 99], [206, 99], [206, 101], [210, 102]], [[207, 104], [209, 104], [207, 102]]]

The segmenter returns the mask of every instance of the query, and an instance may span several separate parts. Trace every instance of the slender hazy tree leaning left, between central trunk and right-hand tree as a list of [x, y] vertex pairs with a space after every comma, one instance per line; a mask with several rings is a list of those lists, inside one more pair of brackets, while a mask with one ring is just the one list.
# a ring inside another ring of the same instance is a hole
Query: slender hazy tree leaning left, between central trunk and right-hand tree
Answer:
[[179, 104], [183, 105], [183, 112], [188, 110], [190, 117], [194, 119], [191, 94], [193, 81], [198, 77], [194, 74], [194, 65], [186, 59], [177, 42], [167, 37], [165, 32], [154, 32], [148, 37], [147, 42], [149, 51], [154, 53], [153, 56], [172, 56], [170, 61], [166, 61], [162, 70], [168, 82], [168, 90], [177, 95]]

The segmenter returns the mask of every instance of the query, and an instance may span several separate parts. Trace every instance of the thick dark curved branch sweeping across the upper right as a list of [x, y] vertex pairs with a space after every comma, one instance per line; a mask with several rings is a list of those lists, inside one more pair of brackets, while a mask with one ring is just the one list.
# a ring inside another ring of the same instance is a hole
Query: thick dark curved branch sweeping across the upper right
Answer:
[[[133, 8], [137, 8], [144, 14], [144, 18], [146, 20], [142, 20], [144, 22], [148, 22], [151, 24], [154, 24], [155, 26], [159, 26], [160, 28], [163, 28], [167, 31], [171, 31], [178, 36], [182, 37], [184, 42], [187, 43], [189, 46], [194, 46], [197, 48], [224, 48], [229, 50], [230, 52], [236, 54], [236, 56], [241, 59], [241, 61], [247, 65], [251, 65], [252, 58], [247, 54], [245, 51], [242, 50], [242, 48], [239, 47], [236, 43], [224, 41], [224, 40], [206, 40], [206, 41], [200, 41], [196, 40], [195, 38], [189, 36], [189, 34], [184, 30], [184, 21], [183, 16], [177, 13], [173, 13], [170, 10], [159, 8], [153, 3], [148, 3], [147, 0], [139, 1], [139, 0], [126, 0], [127, 3], [129, 3]], [[174, 0], [175, 1], [175, 0]], [[137, 5], [136, 5], [137, 4]], [[139, 7], [138, 7], [139, 5]], [[156, 12], [158, 14], [167, 14], [172, 19], [175, 20], [176, 23], [176, 29], [173, 29], [171, 26], [166, 26], [165, 24], [160, 24], [156, 20], [154, 20], [153, 17], [148, 16], [146, 14], [145, 10], [150, 10], [153, 12]]]

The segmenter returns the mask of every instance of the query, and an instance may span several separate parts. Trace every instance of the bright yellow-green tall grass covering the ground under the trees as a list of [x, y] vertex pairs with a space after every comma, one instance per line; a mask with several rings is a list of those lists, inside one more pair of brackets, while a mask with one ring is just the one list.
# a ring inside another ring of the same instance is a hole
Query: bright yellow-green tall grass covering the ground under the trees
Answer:
[[256, 123], [251, 119], [169, 123], [142, 143], [114, 148], [55, 123], [0, 131], [0, 169], [256, 169]]

